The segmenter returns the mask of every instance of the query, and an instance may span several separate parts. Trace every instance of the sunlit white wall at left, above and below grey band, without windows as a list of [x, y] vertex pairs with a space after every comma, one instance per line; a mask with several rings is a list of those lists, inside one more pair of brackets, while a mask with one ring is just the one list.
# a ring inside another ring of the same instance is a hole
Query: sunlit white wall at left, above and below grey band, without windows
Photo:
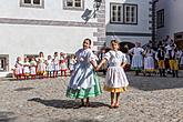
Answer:
[[[84, 0], [84, 9], [92, 10], [93, 0]], [[84, 10], [64, 10], [63, 0], [44, 0], [43, 9], [20, 7], [20, 0], [0, 0], [0, 18], [84, 22], [81, 19], [83, 12]], [[96, 22], [96, 19], [89, 22]], [[96, 28], [91, 27], [0, 23], [0, 54], [9, 54], [11, 70], [19, 55], [38, 54], [40, 51], [45, 57], [55, 51], [74, 53], [82, 48], [84, 38], [96, 41], [93, 37], [96, 31]], [[93, 50], [96, 50], [95, 47]]]

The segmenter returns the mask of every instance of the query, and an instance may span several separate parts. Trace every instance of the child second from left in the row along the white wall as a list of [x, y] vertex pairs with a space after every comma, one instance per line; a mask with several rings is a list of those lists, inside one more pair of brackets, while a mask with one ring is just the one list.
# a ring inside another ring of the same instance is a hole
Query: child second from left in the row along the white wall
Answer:
[[28, 79], [30, 75], [30, 62], [28, 58], [24, 58], [24, 63], [23, 63], [23, 75], [24, 79]]

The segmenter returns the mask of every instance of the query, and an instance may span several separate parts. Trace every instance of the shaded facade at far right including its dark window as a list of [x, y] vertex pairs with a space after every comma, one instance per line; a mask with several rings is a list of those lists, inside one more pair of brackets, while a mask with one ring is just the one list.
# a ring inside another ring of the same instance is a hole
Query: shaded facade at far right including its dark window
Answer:
[[156, 10], [156, 40], [170, 35], [179, 47], [183, 48], [182, 0], [159, 0]]

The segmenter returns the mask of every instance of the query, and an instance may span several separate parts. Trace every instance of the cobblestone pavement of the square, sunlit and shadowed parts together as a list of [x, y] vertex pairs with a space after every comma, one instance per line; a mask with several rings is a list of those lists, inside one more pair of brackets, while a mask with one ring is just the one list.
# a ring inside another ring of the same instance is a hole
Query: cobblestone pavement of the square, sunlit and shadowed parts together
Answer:
[[[0, 81], [0, 122], [183, 122], [183, 71], [180, 78], [134, 77], [121, 94], [119, 109], [109, 109], [110, 93], [74, 109], [65, 98], [69, 78]], [[100, 77], [101, 84], [104, 81]]]

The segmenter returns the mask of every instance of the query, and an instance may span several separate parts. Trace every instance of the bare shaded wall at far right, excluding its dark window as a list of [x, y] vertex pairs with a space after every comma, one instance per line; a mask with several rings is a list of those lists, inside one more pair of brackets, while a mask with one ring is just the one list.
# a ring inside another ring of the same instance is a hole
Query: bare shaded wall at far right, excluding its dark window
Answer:
[[157, 40], [165, 35], [174, 39], [174, 33], [183, 31], [183, 0], [159, 0], [156, 10], [164, 9], [164, 28], [157, 29]]

